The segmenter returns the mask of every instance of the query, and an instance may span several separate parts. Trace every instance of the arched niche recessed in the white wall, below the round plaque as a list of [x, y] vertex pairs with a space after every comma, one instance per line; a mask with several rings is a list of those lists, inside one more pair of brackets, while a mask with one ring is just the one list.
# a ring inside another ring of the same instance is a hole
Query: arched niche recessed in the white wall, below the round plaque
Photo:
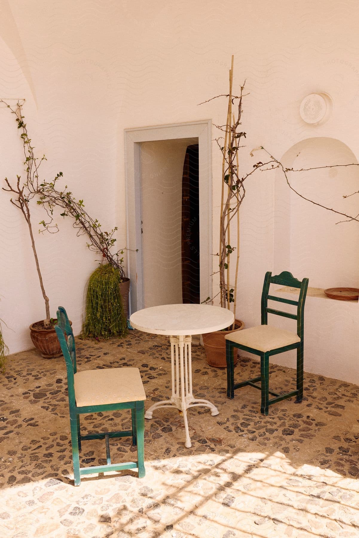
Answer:
[[[335, 138], [301, 140], [281, 158], [287, 168], [357, 164], [350, 148]], [[288, 179], [308, 199], [347, 215], [359, 213], [359, 166], [290, 172]], [[284, 269], [309, 286], [359, 287], [359, 223], [303, 200], [286, 184], [279, 169], [274, 181], [274, 272]]]

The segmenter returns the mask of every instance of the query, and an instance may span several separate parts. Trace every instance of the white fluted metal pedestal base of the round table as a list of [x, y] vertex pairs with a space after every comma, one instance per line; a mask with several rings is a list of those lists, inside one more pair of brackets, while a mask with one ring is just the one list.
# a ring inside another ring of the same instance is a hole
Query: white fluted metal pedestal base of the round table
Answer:
[[162, 400], [153, 404], [145, 413], [146, 419], [152, 419], [152, 413], [157, 407], [174, 407], [183, 413], [185, 422], [185, 446], [190, 448], [187, 409], [189, 407], [209, 407], [211, 415], [219, 414], [219, 410], [208, 400], [194, 398], [192, 393], [192, 353], [191, 336], [171, 336], [171, 378], [172, 396], [169, 400]]

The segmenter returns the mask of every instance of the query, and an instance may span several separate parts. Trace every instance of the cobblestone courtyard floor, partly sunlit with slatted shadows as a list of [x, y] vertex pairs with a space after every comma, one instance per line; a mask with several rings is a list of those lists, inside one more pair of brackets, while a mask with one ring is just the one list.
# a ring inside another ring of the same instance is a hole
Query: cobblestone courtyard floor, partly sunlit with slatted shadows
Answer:
[[[301, 404], [259, 413], [259, 391], [226, 397], [226, 371], [193, 346], [194, 394], [220, 410], [188, 411], [192, 448], [177, 411], [145, 426], [146, 477], [121, 471], [73, 486], [63, 358], [13, 355], [0, 379], [0, 537], [185, 538], [359, 536], [359, 387], [305, 374]], [[137, 366], [145, 407], [170, 392], [167, 339], [138, 331], [123, 340], [78, 341], [78, 369]], [[236, 379], [254, 377], [242, 358]], [[271, 388], [294, 386], [294, 371], [271, 368]], [[82, 430], [130, 429], [130, 413], [85, 415]], [[110, 442], [128, 461], [130, 438]], [[104, 463], [103, 441], [83, 442], [82, 465]]]

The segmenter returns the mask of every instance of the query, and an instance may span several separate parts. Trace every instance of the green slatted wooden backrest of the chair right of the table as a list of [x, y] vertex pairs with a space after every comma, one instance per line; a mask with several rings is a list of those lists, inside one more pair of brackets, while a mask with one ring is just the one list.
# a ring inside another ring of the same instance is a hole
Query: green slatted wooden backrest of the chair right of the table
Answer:
[[[298, 301], [292, 301], [290, 299], [283, 299], [276, 295], [269, 295], [269, 287], [271, 284], [278, 284], [279, 286], [290, 286], [291, 288], [299, 288]], [[302, 340], [304, 336], [304, 303], [307, 295], [308, 279], [304, 278], [302, 281], [294, 278], [292, 273], [283, 271], [282, 273], [272, 277], [272, 273], [268, 271], [265, 273], [264, 285], [261, 301], [261, 314], [262, 325], [268, 325], [268, 314], [276, 314], [278, 316], [290, 317], [292, 320], [297, 320], [297, 334]], [[282, 310], [275, 310], [268, 307], [268, 299], [271, 301], [283, 302], [287, 305], [297, 306], [297, 314], [290, 314], [283, 312]]]

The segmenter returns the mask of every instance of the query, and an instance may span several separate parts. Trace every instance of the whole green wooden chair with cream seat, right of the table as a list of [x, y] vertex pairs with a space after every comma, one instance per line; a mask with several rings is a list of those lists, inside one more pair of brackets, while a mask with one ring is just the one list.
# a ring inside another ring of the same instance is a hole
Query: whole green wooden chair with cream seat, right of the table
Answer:
[[[269, 295], [270, 284], [279, 286], [290, 286], [299, 288], [298, 301], [282, 299], [275, 295]], [[226, 358], [227, 358], [227, 397], [234, 398], [236, 388], [246, 385], [259, 388], [262, 393], [261, 413], [268, 415], [268, 407], [285, 398], [297, 397], [297, 402], [303, 398], [303, 354], [304, 354], [304, 303], [307, 294], [308, 279], [304, 278], [301, 282], [293, 277], [288, 271], [283, 271], [279, 275], [272, 277], [272, 273], [265, 274], [263, 292], [262, 292], [262, 324], [258, 327], [251, 327], [237, 331], [226, 336]], [[282, 312], [268, 307], [268, 300], [286, 303], [287, 305], [297, 306], [297, 314]], [[268, 314], [290, 317], [297, 320], [297, 334], [295, 332], [278, 329], [268, 325]], [[234, 383], [234, 348], [242, 349], [259, 355], [261, 357], [261, 375], [242, 383]], [[287, 394], [277, 394], [269, 390], [269, 357], [283, 353], [291, 349], [297, 350], [297, 390]], [[257, 385], [261, 381], [261, 385]], [[269, 399], [269, 394], [274, 398]]]

